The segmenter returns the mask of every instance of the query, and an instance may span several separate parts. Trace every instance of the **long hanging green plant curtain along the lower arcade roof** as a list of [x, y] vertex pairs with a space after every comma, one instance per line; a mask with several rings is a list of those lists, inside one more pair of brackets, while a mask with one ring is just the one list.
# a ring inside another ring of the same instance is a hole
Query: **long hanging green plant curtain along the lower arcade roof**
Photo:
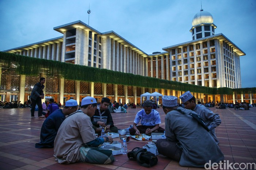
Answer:
[[22, 75], [38, 75], [38, 73], [41, 72], [50, 75], [60, 75], [64, 79], [80, 80], [85, 82], [122, 84], [127, 86], [170, 89], [178, 91], [189, 90], [191, 92], [213, 95], [230, 95], [233, 94], [233, 91], [236, 91], [238, 93], [242, 91], [252, 93], [256, 92], [256, 88], [231, 89], [227, 87], [211, 88], [197, 86], [193, 84], [134, 75], [131, 73], [80, 66], [77, 64], [70, 64], [53, 60], [38, 59], [7, 52], [0, 52], [0, 64], [0, 67], [14, 68], [18, 74]]

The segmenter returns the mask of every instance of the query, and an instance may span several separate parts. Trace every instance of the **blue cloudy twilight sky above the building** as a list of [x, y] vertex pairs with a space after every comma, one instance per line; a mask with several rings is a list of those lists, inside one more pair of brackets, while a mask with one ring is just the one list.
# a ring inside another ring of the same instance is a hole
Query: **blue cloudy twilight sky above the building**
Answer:
[[[0, 0], [0, 51], [63, 35], [53, 27], [88, 24], [89, 4], [91, 27], [113, 30], [147, 54], [191, 41], [192, 19], [201, 9], [200, 0]], [[256, 0], [202, 0], [202, 8], [213, 16], [215, 33], [245, 52], [242, 88], [256, 87]]]

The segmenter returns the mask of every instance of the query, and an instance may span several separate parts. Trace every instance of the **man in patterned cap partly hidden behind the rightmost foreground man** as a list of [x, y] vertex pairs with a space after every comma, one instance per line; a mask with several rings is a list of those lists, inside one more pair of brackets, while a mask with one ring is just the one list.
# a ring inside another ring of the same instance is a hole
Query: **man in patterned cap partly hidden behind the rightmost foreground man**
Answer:
[[217, 139], [215, 134], [215, 127], [221, 124], [221, 118], [219, 117], [219, 114], [212, 112], [207, 107], [199, 106], [198, 104], [196, 104], [195, 97], [190, 93], [190, 91], [186, 91], [184, 94], [182, 94], [180, 96], [180, 99], [184, 104], [185, 108], [193, 110], [202, 117], [202, 119], [208, 126], [208, 129], [210, 130], [209, 133], [212, 135], [215, 142], [219, 144], [219, 140]]

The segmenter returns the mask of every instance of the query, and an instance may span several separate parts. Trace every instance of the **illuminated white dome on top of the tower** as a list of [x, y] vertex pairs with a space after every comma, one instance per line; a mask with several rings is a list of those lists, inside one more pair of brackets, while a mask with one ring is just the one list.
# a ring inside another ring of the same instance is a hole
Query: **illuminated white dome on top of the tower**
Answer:
[[198, 12], [192, 21], [192, 26], [198, 25], [198, 24], [211, 24], [213, 23], [213, 17], [210, 14], [210, 12], [207, 11], [203, 11], [203, 9], [200, 10], [200, 12]]

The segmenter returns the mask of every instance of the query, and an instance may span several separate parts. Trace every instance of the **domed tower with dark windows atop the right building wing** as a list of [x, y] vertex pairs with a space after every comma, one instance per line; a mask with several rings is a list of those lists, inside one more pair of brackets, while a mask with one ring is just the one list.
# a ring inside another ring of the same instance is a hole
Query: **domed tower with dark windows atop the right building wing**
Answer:
[[213, 17], [210, 12], [204, 11], [201, 7], [192, 21], [192, 40], [196, 40], [202, 37], [207, 37], [215, 34], [216, 25], [213, 23]]

